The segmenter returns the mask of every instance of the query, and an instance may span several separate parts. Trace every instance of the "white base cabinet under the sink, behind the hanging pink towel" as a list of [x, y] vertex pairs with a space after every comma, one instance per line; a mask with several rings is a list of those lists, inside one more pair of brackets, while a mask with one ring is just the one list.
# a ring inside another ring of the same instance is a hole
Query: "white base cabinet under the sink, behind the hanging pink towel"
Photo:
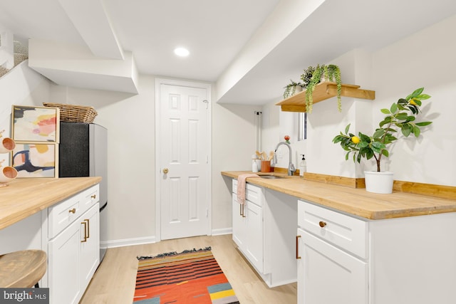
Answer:
[[232, 230], [239, 251], [269, 287], [296, 282], [296, 198], [247, 183], [244, 206], [233, 179]]

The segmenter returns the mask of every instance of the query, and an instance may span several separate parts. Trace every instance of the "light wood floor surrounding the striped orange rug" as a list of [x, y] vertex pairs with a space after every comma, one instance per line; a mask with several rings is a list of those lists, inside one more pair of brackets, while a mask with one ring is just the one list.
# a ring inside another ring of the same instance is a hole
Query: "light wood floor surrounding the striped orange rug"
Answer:
[[158, 243], [110, 248], [80, 303], [124, 304], [133, 302], [138, 260], [136, 256], [153, 256], [169, 251], [212, 247], [212, 254], [231, 283], [241, 304], [294, 304], [296, 283], [268, 288], [241, 256], [231, 234], [196, 236]]

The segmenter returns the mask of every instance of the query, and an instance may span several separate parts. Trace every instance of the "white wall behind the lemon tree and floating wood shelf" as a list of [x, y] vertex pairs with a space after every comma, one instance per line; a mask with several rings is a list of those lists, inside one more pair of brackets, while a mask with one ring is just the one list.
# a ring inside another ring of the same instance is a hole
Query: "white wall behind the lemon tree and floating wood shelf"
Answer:
[[364, 169], [375, 169], [374, 162], [366, 160], [361, 165], [346, 162], [333, 137], [348, 123], [351, 132], [371, 134], [384, 117], [381, 108], [425, 87], [432, 98], [423, 101], [419, 120], [432, 120], [432, 125], [418, 140], [401, 137], [390, 148], [390, 157], [382, 160], [382, 170], [393, 171], [396, 180], [456, 186], [456, 41], [441, 34], [449, 28], [456, 28], [456, 16], [381, 50], [353, 50], [331, 61], [341, 67], [343, 83], [375, 90], [375, 100], [342, 98], [341, 113], [336, 98], [314, 105], [308, 120], [308, 172], [363, 177]]

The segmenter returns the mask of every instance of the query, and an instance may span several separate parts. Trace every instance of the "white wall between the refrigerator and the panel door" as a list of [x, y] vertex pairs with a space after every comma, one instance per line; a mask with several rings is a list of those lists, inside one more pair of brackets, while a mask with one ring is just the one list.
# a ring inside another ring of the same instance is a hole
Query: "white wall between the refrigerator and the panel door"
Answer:
[[155, 239], [155, 78], [138, 80], [138, 95], [51, 87], [52, 102], [92, 105], [108, 129], [108, 246]]

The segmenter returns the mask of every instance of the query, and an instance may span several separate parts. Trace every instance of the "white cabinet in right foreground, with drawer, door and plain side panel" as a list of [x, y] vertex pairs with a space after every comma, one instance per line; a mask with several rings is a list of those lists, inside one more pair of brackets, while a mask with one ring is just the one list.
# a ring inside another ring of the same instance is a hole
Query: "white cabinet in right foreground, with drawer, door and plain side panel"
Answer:
[[368, 220], [298, 205], [299, 304], [455, 303], [455, 213]]

